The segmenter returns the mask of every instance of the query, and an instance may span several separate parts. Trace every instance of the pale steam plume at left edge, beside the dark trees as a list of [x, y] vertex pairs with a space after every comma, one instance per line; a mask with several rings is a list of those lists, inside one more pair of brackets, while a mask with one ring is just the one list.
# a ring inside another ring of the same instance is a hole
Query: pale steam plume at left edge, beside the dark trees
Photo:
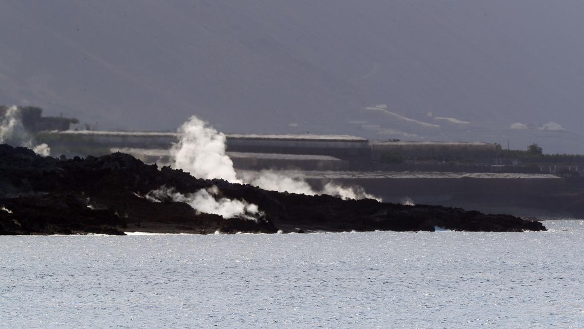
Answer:
[[33, 149], [34, 153], [41, 156], [49, 156], [51, 148], [42, 143], [34, 145], [33, 138], [22, 125], [20, 109], [15, 105], [6, 109], [4, 115], [0, 116], [0, 144], [8, 143], [13, 146], [24, 146]]

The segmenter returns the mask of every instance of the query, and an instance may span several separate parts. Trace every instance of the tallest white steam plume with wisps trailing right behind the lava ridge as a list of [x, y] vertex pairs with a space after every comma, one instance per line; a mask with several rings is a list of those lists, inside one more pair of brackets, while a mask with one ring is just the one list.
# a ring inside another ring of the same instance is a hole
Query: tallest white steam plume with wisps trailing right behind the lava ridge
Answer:
[[233, 162], [225, 154], [225, 135], [208, 127], [206, 122], [196, 116], [191, 116], [179, 128], [180, 140], [171, 148], [173, 165], [185, 170], [195, 177], [204, 179], [224, 179], [231, 183], [246, 183], [264, 190], [290, 192], [298, 194], [329, 194], [343, 199], [373, 198], [361, 187], [342, 187], [328, 183], [322, 191], [315, 191], [301, 176], [290, 176], [288, 173], [273, 170], [262, 170], [254, 173], [244, 173], [241, 179], [235, 174]]

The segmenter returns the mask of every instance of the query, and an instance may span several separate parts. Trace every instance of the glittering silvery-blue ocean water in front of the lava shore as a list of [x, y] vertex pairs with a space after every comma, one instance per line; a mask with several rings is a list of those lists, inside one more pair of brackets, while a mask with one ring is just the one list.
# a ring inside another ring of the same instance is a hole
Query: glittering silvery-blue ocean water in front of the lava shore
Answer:
[[583, 327], [549, 232], [0, 237], [0, 327]]

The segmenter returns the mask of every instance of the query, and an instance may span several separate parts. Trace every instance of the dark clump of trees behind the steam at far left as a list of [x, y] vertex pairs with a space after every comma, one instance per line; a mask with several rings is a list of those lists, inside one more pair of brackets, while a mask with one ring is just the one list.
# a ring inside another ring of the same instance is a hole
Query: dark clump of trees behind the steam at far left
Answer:
[[[11, 107], [0, 105], [0, 118], [4, 118]], [[78, 119], [63, 118], [62, 116], [42, 116], [43, 109], [38, 107], [17, 107], [22, 125], [29, 132], [65, 131], [72, 124], [78, 124]]]

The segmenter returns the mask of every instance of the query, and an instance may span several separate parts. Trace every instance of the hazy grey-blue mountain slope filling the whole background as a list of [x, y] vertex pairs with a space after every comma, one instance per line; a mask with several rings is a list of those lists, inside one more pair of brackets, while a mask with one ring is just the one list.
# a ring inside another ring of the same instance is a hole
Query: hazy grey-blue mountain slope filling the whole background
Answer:
[[[174, 129], [197, 114], [230, 132], [346, 132], [363, 119], [460, 136], [432, 112], [578, 132], [582, 12], [580, 1], [4, 0], [0, 103], [110, 129]], [[375, 104], [442, 130], [363, 112]]]

